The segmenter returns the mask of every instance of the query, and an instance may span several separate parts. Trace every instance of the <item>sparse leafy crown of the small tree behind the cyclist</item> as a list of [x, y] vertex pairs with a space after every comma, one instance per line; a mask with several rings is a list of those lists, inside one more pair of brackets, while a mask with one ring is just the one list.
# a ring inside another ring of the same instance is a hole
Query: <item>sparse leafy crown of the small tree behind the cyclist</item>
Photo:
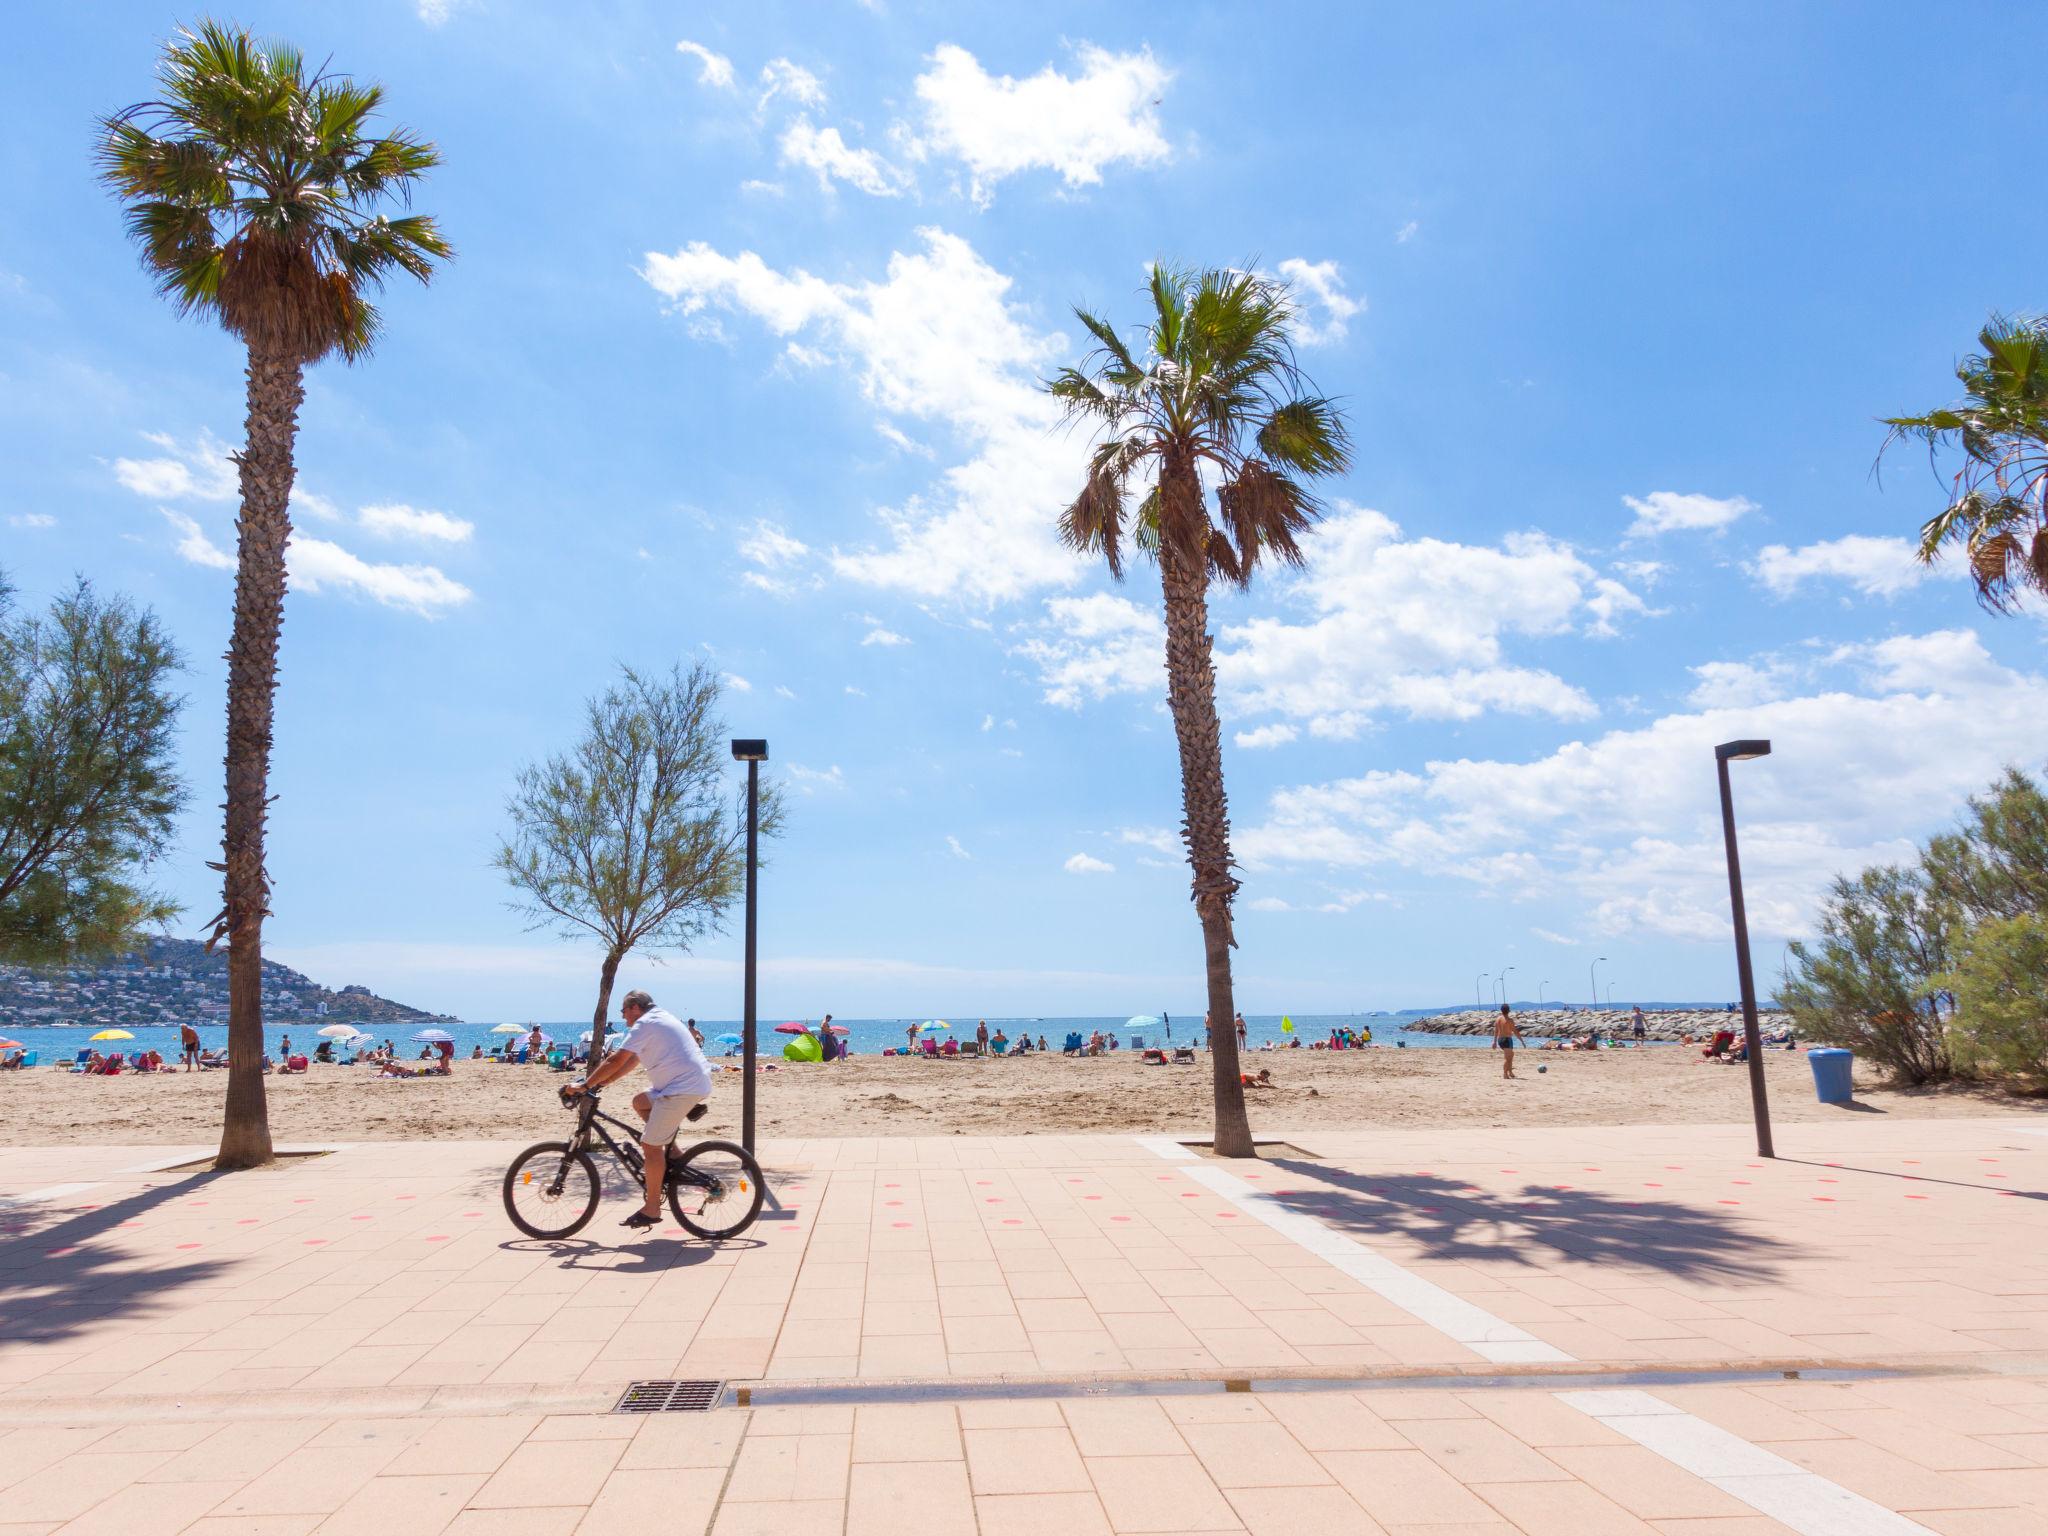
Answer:
[[[731, 786], [717, 711], [702, 664], [623, 668], [586, 705], [582, 739], [520, 772], [494, 862], [535, 928], [592, 934], [612, 961], [719, 930], [745, 891], [745, 786]], [[760, 831], [780, 827], [782, 795], [762, 784]]]

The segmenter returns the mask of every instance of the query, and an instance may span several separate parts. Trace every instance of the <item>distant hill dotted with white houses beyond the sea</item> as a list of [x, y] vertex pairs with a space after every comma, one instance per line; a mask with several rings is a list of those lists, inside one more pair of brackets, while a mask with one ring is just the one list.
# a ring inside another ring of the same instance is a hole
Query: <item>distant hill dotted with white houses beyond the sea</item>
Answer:
[[[369, 987], [334, 991], [276, 961], [262, 963], [262, 1012], [270, 1024], [440, 1024]], [[150, 938], [133, 954], [100, 965], [31, 971], [0, 965], [0, 1028], [33, 1024], [225, 1024], [227, 950], [207, 954], [188, 938]]]

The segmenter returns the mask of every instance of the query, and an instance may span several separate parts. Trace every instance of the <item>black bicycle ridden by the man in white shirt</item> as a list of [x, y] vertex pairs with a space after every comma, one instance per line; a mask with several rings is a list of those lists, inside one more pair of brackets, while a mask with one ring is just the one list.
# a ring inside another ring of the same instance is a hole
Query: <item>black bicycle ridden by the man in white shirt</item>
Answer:
[[[575, 1133], [567, 1141], [535, 1143], [506, 1169], [506, 1214], [528, 1237], [573, 1237], [598, 1214], [604, 1184], [590, 1155], [594, 1143], [602, 1143], [633, 1176], [635, 1188], [645, 1188], [639, 1128], [604, 1114], [598, 1094], [590, 1090], [578, 1098], [563, 1090], [561, 1102], [578, 1110]], [[698, 1118], [702, 1108], [698, 1104], [690, 1118]], [[606, 1126], [623, 1130], [625, 1141]], [[682, 1151], [668, 1143], [662, 1184], [682, 1229], [713, 1243], [752, 1227], [766, 1194], [754, 1153], [733, 1141], [700, 1141]]]

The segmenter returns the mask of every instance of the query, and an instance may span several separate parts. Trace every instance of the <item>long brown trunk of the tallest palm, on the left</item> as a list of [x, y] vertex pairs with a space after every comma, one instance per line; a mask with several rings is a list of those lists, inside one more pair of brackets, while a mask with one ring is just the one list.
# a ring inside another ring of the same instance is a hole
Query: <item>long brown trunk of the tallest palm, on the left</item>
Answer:
[[215, 1167], [270, 1161], [262, 1085], [262, 920], [270, 907], [264, 821], [270, 815], [270, 719], [276, 639], [285, 625], [285, 543], [291, 539], [293, 440], [305, 383], [297, 358], [248, 365], [248, 442], [240, 455], [236, 627], [227, 641], [227, 838], [221, 930], [227, 934], [227, 1108]]

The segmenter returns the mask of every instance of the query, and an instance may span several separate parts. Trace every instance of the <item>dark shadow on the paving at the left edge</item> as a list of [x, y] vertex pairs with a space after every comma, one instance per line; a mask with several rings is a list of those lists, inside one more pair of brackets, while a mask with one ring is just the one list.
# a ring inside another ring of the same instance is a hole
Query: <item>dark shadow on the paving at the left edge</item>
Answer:
[[8, 1206], [0, 1210], [0, 1339], [53, 1343], [109, 1317], [147, 1323], [168, 1313], [186, 1286], [207, 1284], [233, 1260], [147, 1264], [133, 1247], [109, 1243], [115, 1229], [223, 1178], [213, 1169], [150, 1184], [86, 1210]]

